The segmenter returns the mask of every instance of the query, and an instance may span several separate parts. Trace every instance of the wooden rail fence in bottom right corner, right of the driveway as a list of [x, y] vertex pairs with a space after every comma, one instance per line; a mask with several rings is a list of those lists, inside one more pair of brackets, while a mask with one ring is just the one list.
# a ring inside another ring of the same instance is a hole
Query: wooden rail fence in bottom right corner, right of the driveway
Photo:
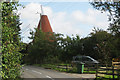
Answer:
[[116, 65], [120, 66], [120, 64], [97, 65], [96, 78], [120, 80], [120, 68]]

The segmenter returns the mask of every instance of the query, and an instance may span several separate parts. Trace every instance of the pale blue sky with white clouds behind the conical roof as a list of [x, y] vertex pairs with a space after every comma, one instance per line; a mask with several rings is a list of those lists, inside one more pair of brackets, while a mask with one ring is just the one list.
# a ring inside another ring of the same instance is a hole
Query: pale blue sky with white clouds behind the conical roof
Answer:
[[41, 13], [40, 5], [43, 6], [43, 13], [48, 16], [51, 27], [55, 33], [62, 33], [71, 36], [78, 34], [86, 37], [93, 27], [106, 30], [108, 19], [106, 13], [95, 10], [89, 2], [32, 2], [21, 1], [25, 8], [19, 8], [20, 19], [23, 23], [21, 36], [24, 42], [28, 39], [30, 29], [37, 27]]

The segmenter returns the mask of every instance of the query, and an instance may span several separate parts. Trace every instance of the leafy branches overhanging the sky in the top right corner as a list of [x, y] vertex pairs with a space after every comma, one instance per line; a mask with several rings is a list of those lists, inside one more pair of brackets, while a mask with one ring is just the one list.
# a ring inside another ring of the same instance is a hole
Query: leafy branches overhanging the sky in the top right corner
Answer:
[[120, 1], [111, 0], [98, 0], [91, 2], [92, 6], [102, 12], [108, 12], [110, 24], [110, 30], [114, 34], [120, 34]]

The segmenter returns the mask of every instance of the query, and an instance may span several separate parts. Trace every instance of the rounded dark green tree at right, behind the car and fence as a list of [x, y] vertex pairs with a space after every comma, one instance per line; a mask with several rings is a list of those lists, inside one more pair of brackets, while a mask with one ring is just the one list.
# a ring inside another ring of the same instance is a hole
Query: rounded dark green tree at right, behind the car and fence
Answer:
[[[88, 44], [92, 45], [93, 56], [97, 59], [108, 61], [111, 58], [118, 56], [114, 45], [114, 37], [112, 34], [101, 29], [94, 29], [94, 32], [90, 34]], [[106, 62], [107, 63], [107, 62]]]

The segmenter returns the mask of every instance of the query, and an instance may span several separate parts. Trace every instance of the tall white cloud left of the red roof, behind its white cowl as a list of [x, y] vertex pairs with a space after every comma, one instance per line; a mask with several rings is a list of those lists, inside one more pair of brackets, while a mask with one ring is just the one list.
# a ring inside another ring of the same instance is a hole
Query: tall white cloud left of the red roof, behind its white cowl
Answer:
[[[37, 27], [40, 20], [41, 13], [41, 4], [38, 3], [30, 3], [25, 6], [24, 9], [18, 9], [18, 13], [20, 13], [20, 19], [22, 21], [21, 27], [21, 36], [24, 37], [23, 41], [29, 42], [28, 36], [30, 36], [30, 30], [34, 30]], [[43, 7], [44, 13], [46, 15], [52, 16], [52, 10], [50, 7]]]

